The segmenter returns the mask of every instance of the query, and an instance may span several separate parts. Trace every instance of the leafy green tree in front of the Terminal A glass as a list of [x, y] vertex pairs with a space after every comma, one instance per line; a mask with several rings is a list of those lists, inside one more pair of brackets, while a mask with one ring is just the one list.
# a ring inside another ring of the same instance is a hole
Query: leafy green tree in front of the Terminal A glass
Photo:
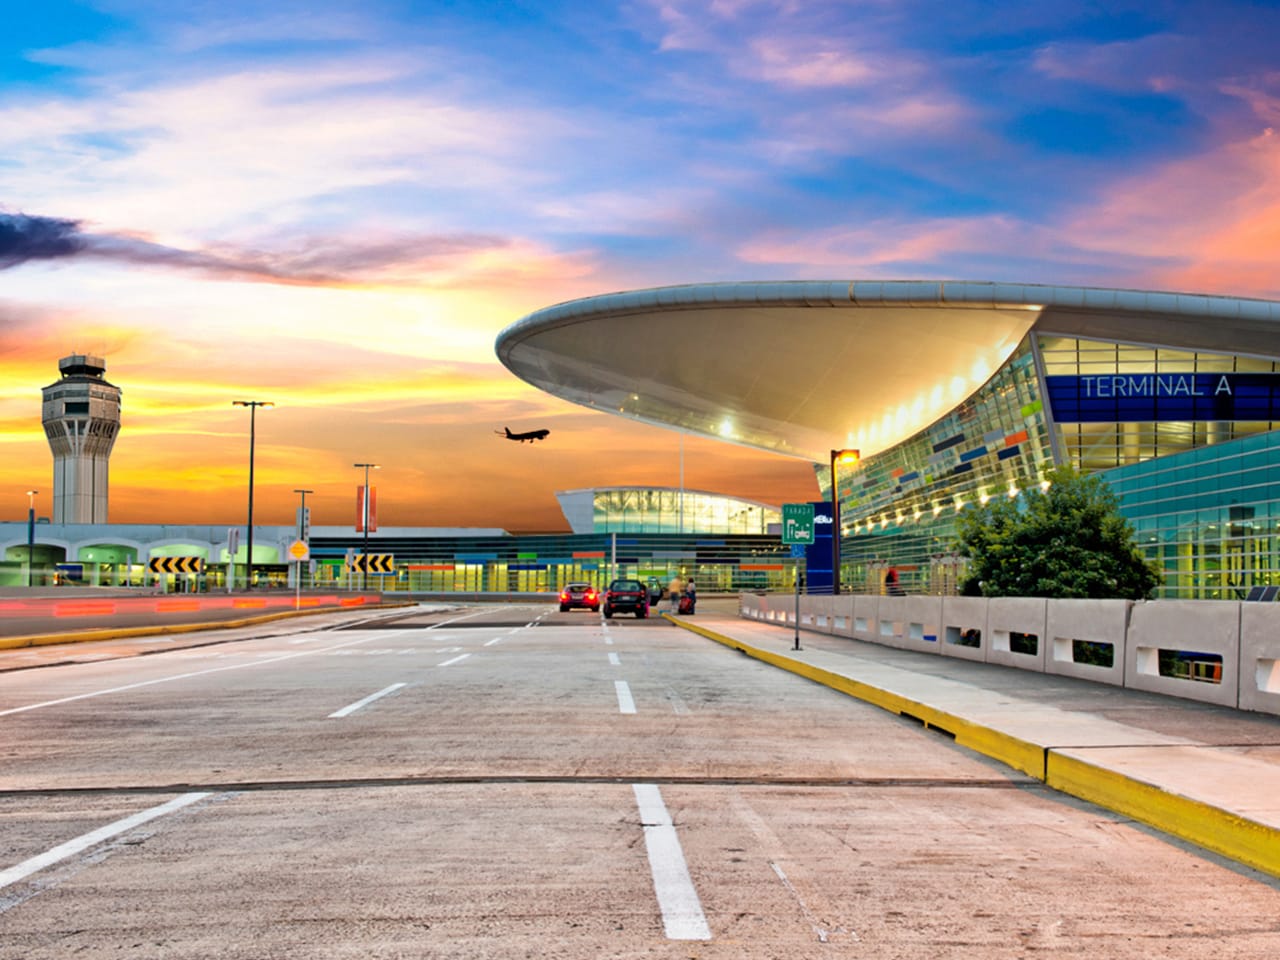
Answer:
[[1134, 544], [1120, 500], [1100, 476], [1070, 467], [1018, 498], [992, 498], [956, 518], [969, 558], [961, 591], [980, 596], [1148, 599], [1164, 582]]

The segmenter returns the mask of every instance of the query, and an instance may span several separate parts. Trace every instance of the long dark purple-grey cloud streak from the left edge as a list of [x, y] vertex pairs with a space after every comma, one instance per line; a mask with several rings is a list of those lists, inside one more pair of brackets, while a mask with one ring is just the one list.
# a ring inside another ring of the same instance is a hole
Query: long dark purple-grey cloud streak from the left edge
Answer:
[[230, 246], [182, 250], [142, 237], [87, 233], [79, 220], [0, 214], [0, 270], [32, 260], [93, 257], [189, 270], [214, 279], [342, 287], [367, 283], [424, 283], [453, 257], [507, 246], [488, 234], [403, 236], [362, 241], [321, 237], [291, 250], [253, 251]]

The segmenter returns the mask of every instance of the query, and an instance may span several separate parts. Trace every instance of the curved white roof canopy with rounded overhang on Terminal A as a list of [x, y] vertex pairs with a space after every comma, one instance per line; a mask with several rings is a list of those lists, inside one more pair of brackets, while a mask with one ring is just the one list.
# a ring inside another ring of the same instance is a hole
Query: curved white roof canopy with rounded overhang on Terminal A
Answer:
[[513, 374], [575, 403], [826, 462], [924, 429], [1033, 328], [1280, 358], [1272, 301], [960, 280], [611, 293], [530, 314], [495, 347]]

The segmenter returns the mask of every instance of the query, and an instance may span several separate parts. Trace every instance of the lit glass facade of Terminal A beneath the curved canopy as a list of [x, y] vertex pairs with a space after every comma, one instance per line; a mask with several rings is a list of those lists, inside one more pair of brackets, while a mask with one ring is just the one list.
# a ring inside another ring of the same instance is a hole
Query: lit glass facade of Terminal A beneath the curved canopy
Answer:
[[[899, 447], [838, 477], [841, 577], [879, 593], [897, 568], [909, 593], [955, 593], [955, 515], [986, 498], [1016, 495], [1061, 462], [1102, 474], [1165, 572], [1162, 596], [1243, 599], [1280, 584], [1280, 434], [1274, 421], [1052, 424], [1046, 376], [1275, 374], [1276, 361], [1043, 337], [974, 397]], [[815, 467], [829, 495], [828, 466]]]

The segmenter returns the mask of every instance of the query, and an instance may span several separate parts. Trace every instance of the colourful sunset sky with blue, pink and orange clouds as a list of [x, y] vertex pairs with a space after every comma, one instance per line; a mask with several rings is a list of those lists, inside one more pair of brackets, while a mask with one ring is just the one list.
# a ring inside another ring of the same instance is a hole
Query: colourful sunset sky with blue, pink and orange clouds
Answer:
[[[0, 0], [0, 520], [40, 389], [106, 358], [113, 522], [567, 530], [677, 434], [550, 398], [499, 330], [575, 297], [969, 279], [1280, 298], [1280, 10], [973, 0]], [[636, 332], [654, 362], [678, 349]], [[726, 357], [708, 362], [732, 362]], [[549, 428], [539, 444], [494, 435]], [[808, 463], [689, 438], [685, 484]]]

